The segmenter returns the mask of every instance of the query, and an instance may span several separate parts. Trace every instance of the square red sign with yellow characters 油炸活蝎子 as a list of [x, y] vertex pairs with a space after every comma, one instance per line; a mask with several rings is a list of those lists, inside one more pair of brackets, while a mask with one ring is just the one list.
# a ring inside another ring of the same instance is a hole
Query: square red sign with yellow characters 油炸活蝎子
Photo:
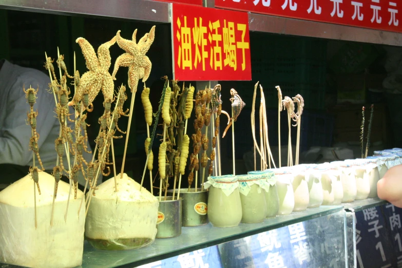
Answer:
[[180, 4], [172, 12], [176, 80], [251, 80], [247, 13]]

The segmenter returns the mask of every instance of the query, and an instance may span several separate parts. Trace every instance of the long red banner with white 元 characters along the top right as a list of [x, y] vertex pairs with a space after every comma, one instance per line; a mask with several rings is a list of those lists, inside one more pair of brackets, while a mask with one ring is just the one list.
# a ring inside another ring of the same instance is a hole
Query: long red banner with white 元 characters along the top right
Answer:
[[215, 6], [362, 28], [402, 32], [399, 0], [215, 0]]

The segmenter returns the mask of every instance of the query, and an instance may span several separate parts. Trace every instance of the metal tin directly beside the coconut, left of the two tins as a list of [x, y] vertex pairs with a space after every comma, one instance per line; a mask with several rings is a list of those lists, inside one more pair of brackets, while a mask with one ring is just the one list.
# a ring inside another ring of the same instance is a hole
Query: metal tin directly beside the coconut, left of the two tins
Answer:
[[159, 202], [156, 238], [170, 238], [181, 235], [182, 224], [182, 198]]

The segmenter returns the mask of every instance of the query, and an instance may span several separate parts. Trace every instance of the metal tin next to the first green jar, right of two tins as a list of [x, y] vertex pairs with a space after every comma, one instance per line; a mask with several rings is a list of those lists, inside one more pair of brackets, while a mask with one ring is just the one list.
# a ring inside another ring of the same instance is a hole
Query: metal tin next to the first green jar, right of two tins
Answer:
[[[176, 189], [175, 196], [177, 196], [177, 193], [178, 190]], [[168, 194], [173, 194], [173, 190], [168, 190]], [[180, 198], [183, 198], [182, 226], [190, 227], [208, 224], [208, 191], [195, 192], [195, 188], [191, 188], [188, 192], [188, 188], [181, 188]]]

